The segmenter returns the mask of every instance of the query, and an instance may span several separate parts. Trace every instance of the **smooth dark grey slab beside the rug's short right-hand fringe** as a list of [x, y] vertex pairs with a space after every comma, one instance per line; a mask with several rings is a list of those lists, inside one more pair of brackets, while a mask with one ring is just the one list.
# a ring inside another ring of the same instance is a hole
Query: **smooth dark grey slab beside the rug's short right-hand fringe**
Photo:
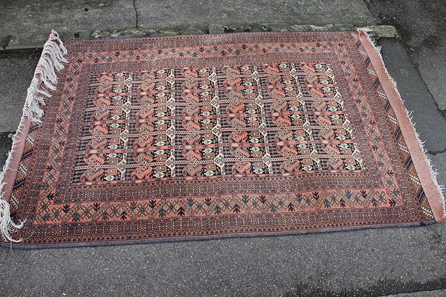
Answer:
[[413, 111], [413, 122], [424, 148], [431, 152], [446, 149], [446, 120], [433, 101], [432, 95], [410, 61], [406, 49], [397, 40], [379, 40], [383, 46], [383, 60], [387, 70], [397, 81], [399, 93], [406, 103], [408, 111]]

